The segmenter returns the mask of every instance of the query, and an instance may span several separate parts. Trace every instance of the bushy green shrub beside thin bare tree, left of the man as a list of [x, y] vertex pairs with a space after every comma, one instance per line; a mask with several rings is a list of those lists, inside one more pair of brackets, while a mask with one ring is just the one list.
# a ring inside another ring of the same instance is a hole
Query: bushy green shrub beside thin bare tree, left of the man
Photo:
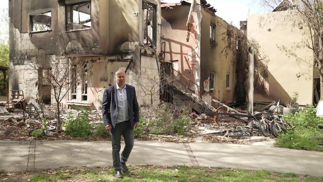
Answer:
[[74, 119], [73, 114], [68, 116], [68, 123], [64, 124], [66, 135], [73, 137], [86, 137], [91, 134], [92, 125], [89, 123], [88, 113], [81, 111], [79, 117]]

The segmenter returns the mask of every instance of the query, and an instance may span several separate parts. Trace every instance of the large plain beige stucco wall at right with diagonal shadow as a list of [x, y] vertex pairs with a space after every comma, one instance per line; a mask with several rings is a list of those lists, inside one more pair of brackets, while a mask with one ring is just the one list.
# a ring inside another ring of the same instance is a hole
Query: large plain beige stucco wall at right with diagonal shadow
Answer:
[[266, 89], [254, 91], [254, 101], [280, 99], [289, 102], [299, 93], [301, 105], [313, 100], [313, 52], [310, 33], [295, 12], [278, 11], [248, 16], [248, 39], [259, 43], [262, 56], [268, 58]]

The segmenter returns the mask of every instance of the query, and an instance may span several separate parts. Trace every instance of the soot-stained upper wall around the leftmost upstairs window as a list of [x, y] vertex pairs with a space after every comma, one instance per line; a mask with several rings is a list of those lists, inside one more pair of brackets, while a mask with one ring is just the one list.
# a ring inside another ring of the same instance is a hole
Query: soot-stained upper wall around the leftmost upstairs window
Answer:
[[[30, 16], [48, 11], [52, 12], [52, 30], [30, 33]], [[11, 60], [14, 61], [12, 57], [36, 55], [37, 49], [56, 54], [58, 14], [55, 0], [10, 0], [9, 17]]]

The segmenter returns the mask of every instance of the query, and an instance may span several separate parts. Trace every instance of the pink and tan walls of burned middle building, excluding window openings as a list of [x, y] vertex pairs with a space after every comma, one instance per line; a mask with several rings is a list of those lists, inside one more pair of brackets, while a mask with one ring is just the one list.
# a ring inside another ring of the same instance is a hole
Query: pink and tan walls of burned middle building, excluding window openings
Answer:
[[[165, 61], [178, 60], [178, 63], [173, 63], [174, 69], [201, 88], [210, 72], [215, 72], [215, 90], [211, 93], [220, 100], [234, 101], [236, 46], [232, 38], [232, 48], [226, 48], [229, 24], [195, 2], [190, 18], [192, 27], [187, 31], [189, 9], [189, 4], [162, 9], [161, 41], [165, 42]], [[210, 23], [216, 24], [217, 46], [210, 43]], [[198, 71], [194, 70], [192, 62]], [[227, 73], [231, 77], [230, 90], [226, 88]]]

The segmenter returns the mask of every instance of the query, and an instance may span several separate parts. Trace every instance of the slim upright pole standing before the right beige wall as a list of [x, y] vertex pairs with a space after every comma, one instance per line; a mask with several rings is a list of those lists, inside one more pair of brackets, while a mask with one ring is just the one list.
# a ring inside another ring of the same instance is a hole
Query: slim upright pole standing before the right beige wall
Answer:
[[249, 113], [253, 114], [253, 74], [254, 74], [254, 52], [252, 47], [248, 49], [248, 60], [249, 60], [249, 69], [248, 69], [248, 100], [247, 100], [247, 108]]

